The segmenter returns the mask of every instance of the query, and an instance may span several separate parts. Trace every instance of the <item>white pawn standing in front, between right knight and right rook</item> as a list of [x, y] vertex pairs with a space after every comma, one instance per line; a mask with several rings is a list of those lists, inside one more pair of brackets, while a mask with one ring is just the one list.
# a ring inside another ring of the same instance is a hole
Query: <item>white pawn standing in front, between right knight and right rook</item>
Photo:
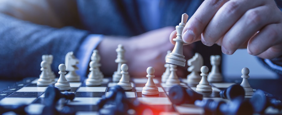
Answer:
[[207, 66], [202, 66], [201, 67], [201, 76], [202, 79], [199, 82], [199, 84], [197, 85], [196, 91], [201, 91], [201, 92], [209, 92], [212, 91], [212, 86], [210, 85], [210, 83], [207, 81], [207, 73], [209, 71], [209, 68]]

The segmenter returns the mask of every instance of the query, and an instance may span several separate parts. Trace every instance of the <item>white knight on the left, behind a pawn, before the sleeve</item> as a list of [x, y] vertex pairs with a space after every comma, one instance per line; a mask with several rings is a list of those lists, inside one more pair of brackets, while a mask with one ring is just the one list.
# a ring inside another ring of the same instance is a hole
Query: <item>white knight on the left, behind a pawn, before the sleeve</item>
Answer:
[[65, 78], [69, 82], [80, 82], [80, 76], [76, 74], [76, 70], [78, 70], [76, 65], [78, 63], [79, 60], [76, 59], [72, 51], [65, 55], [66, 71], [69, 71], [69, 73], [65, 75]]

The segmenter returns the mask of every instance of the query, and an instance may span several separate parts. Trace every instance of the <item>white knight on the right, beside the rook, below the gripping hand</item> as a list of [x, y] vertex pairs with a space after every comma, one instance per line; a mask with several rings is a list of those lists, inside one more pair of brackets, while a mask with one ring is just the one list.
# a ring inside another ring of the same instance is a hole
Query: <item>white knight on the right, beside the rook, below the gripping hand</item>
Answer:
[[201, 75], [199, 72], [201, 71], [201, 67], [204, 65], [204, 60], [201, 54], [195, 53], [195, 55], [187, 61], [188, 71], [191, 72], [187, 75], [187, 84], [188, 85], [197, 85], [201, 81]]

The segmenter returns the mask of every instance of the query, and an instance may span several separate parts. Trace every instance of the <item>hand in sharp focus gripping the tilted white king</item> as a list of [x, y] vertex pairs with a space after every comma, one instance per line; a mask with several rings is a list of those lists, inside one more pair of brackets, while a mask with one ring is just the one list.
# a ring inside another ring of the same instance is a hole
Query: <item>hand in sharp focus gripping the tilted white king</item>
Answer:
[[[202, 41], [220, 45], [233, 54], [238, 48], [261, 58], [282, 55], [282, 13], [274, 0], [205, 0], [187, 22], [182, 39], [185, 44]], [[170, 41], [176, 37], [173, 31]]]

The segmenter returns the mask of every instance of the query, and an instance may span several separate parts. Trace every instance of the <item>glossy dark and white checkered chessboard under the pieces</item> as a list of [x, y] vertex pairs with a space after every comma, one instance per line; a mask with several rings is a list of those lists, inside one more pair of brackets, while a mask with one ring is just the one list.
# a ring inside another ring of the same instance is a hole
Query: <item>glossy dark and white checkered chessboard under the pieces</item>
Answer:
[[[58, 78], [55, 79], [57, 81]], [[11, 107], [15, 105], [27, 105], [25, 111], [30, 115], [43, 114], [44, 108], [44, 96], [46, 87], [37, 86], [38, 78], [26, 78], [23, 81], [16, 83], [14, 86], [9, 87], [0, 92], [0, 105], [3, 107]], [[152, 109], [153, 113], [157, 111], [159, 115], [202, 115], [205, 114], [205, 109], [195, 106], [194, 104], [174, 104], [170, 100], [169, 90], [170, 86], [162, 83], [160, 79], [154, 78], [154, 83], [159, 89], [158, 95], [143, 95], [142, 88], [145, 86], [148, 78], [134, 78], [131, 77], [130, 83], [133, 89], [126, 90], [125, 95], [130, 103], [138, 101]], [[192, 89], [196, 91], [196, 87], [190, 87], [186, 83], [186, 79], [180, 78], [180, 85], [187, 89]], [[53, 85], [55, 83], [53, 82]], [[230, 100], [223, 99], [220, 97], [220, 91], [227, 89], [235, 83], [210, 83], [212, 85], [212, 92], [198, 92], [203, 95], [203, 100], [213, 99], [215, 101], [225, 101]], [[76, 115], [99, 115], [99, 108], [97, 102], [102, 99], [102, 97], [107, 97], [109, 95], [110, 88], [117, 85], [117, 82], [112, 82], [111, 77], [105, 77], [100, 86], [89, 87], [85, 85], [84, 82], [70, 82], [70, 90], [61, 91], [62, 93], [70, 92], [75, 94], [73, 100], [63, 101], [63, 106], [67, 106], [75, 111]], [[254, 89], [254, 92], [256, 90]], [[267, 94], [265, 92], [265, 94]], [[271, 96], [271, 94], [268, 94]], [[250, 99], [252, 96], [245, 96], [245, 99]], [[57, 107], [58, 109], [58, 107]], [[1, 111], [1, 110], [0, 110]], [[151, 114], [150, 112], [135, 113], [135, 114]], [[265, 114], [281, 114], [281, 111], [268, 108], [265, 110]]]

